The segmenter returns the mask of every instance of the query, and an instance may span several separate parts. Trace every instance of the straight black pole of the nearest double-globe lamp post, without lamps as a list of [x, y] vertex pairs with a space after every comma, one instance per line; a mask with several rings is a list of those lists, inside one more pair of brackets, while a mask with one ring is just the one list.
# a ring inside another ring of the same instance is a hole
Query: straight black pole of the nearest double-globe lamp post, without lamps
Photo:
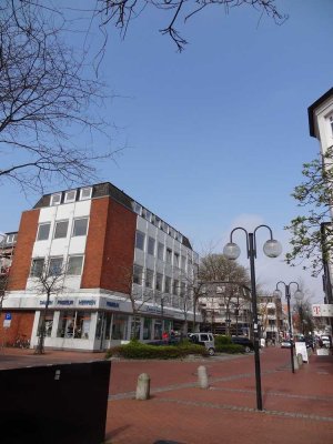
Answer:
[[253, 335], [254, 335], [254, 366], [255, 366], [255, 389], [256, 389], [256, 408], [262, 410], [261, 395], [261, 372], [260, 372], [260, 351], [259, 351], [259, 325], [258, 325], [258, 307], [256, 307], [256, 290], [255, 290], [255, 269], [254, 269], [254, 234], [249, 233], [249, 258], [250, 258], [250, 275], [251, 275], [251, 293], [252, 293], [252, 315], [253, 315]]

